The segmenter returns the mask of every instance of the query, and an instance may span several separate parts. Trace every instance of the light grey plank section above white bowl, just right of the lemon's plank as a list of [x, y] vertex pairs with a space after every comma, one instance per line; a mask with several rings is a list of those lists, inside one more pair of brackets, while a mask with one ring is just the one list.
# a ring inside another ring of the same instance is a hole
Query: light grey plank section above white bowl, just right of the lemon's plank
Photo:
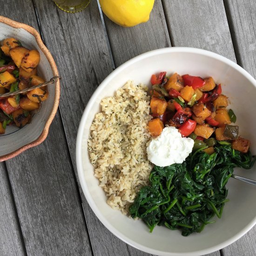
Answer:
[[173, 46], [195, 47], [236, 61], [222, 0], [163, 0]]

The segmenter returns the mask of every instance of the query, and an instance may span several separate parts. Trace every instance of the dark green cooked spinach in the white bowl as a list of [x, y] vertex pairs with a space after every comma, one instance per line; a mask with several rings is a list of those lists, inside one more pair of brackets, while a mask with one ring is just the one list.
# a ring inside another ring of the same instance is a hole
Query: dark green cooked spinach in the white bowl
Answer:
[[182, 236], [201, 232], [221, 217], [228, 190], [225, 188], [233, 168], [252, 168], [256, 157], [242, 154], [231, 145], [217, 144], [208, 155], [199, 148], [182, 164], [155, 166], [149, 175], [150, 186], [141, 188], [129, 211], [141, 218], [152, 232], [156, 225], [181, 229]]

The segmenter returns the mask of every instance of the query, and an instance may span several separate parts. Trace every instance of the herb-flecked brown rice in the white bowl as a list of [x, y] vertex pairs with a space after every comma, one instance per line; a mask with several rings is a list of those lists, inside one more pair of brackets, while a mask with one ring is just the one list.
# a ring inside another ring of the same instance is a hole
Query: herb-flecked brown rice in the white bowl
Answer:
[[101, 101], [88, 139], [95, 176], [113, 209], [128, 213], [142, 185], [148, 185], [152, 169], [146, 148], [150, 140], [148, 88], [128, 81], [114, 97]]

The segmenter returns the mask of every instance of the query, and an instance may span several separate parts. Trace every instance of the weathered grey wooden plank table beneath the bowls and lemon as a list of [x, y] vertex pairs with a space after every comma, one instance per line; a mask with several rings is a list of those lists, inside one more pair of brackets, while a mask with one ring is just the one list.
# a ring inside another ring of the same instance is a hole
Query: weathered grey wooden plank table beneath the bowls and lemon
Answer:
[[[156, 0], [147, 23], [123, 28], [102, 17], [96, 0], [75, 14], [50, 0], [0, 0], [0, 15], [40, 31], [62, 77], [46, 141], [0, 163], [0, 255], [146, 256], [112, 235], [81, 191], [75, 139], [83, 110], [115, 67], [162, 47], [207, 49], [256, 77], [255, 13], [255, 0]], [[255, 256], [255, 239], [253, 228], [210, 256]]]

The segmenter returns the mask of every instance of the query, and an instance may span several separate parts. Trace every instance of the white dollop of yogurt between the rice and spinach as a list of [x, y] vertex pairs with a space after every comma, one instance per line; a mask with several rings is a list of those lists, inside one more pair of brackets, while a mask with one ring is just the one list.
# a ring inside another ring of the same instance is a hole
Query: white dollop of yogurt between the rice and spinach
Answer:
[[193, 146], [194, 141], [190, 138], [182, 138], [178, 129], [166, 127], [161, 135], [149, 142], [148, 160], [160, 167], [182, 163], [192, 152]]

